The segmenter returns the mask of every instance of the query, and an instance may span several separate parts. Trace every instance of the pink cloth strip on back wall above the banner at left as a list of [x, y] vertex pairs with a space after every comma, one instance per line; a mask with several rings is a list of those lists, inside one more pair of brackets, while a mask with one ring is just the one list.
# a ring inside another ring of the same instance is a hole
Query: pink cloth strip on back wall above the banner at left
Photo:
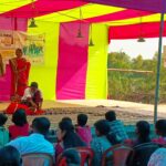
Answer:
[[27, 31], [28, 19], [0, 15], [0, 30]]

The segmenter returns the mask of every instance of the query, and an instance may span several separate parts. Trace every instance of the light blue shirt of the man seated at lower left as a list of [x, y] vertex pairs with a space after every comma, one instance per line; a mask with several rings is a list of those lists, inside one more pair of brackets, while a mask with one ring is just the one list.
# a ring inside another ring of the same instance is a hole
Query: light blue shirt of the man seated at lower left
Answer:
[[46, 153], [54, 156], [53, 144], [48, 142], [43, 135], [33, 133], [30, 136], [19, 137], [7, 145], [15, 147], [21, 155], [29, 153]]

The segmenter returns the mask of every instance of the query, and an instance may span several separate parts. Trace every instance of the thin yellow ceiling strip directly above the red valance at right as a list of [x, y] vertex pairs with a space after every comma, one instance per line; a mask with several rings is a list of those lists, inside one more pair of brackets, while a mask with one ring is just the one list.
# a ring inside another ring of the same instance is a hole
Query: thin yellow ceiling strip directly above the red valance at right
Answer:
[[[166, 20], [166, 14], [165, 18]], [[133, 18], [133, 19], [125, 19], [125, 20], [120, 20], [120, 21], [110, 21], [110, 22], [105, 22], [105, 24], [108, 25], [127, 25], [127, 24], [136, 24], [136, 23], [141, 23], [141, 22], [159, 22], [160, 21], [160, 14], [152, 14], [152, 15], [146, 15], [146, 17], [141, 17], [138, 18]]]

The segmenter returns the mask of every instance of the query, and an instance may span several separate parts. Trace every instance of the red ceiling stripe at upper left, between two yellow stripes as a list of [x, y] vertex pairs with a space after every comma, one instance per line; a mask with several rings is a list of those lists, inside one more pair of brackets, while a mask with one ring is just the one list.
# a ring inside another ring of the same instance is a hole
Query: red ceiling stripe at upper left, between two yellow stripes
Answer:
[[30, 3], [2, 13], [2, 15], [13, 18], [35, 18], [56, 11], [76, 8], [83, 4], [86, 4], [86, 2], [82, 0], [38, 0], [33, 4], [34, 8], [32, 8], [32, 3]]

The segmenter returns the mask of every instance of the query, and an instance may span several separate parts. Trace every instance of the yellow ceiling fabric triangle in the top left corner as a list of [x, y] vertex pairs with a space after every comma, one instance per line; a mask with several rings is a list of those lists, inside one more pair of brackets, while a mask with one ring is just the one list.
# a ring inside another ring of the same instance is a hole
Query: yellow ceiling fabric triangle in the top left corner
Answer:
[[31, 3], [32, 0], [0, 0], [0, 13]]

